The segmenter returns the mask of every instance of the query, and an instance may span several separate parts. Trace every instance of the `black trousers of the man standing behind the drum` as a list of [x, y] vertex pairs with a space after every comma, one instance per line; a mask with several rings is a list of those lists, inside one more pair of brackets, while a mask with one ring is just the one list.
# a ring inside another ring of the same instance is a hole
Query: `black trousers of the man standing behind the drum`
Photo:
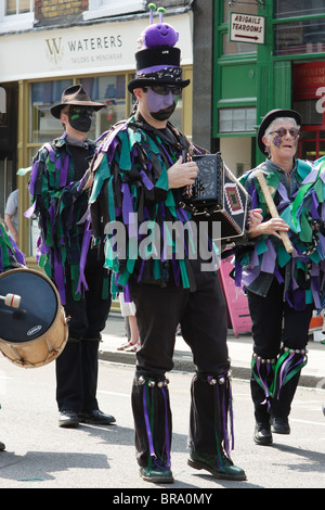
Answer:
[[107, 270], [98, 252], [88, 254], [86, 280], [89, 290], [80, 301], [75, 301], [70, 283], [66, 284], [65, 314], [69, 340], [56, 358], [56, 401], [60, 411], [92, 411], [99, 408], [96, 400], [99, 345], [110, 308], [108, 298], [102, 298], [103, 280]]

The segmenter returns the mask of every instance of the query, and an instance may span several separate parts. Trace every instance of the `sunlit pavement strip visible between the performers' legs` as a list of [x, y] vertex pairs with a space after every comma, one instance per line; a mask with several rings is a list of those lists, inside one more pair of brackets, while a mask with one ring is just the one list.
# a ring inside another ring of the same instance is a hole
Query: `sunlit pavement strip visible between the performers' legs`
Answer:
[[[123, 318], [119, 313], [112, 313], [102, 333], [100, 344], [100, 359], [116, 364], [135, 365], [135, 354], [117, 350], [127, 342]], [[316, 339], [317, 341], [315, 341]], [[320, 342], [321, 340], [321, 342]], [[325, 335], [321, 330], [313, 330], [308, 344], [308, 364], [300, 375], [300, 386], [325, 390]], [[232, 330], [227, 335], [229, 354], [231, 358], [232, 375], [236, 379], [250, 378], [250, 361], [252, 354], [251, 333], [240, 333], [235, 337]], [[194, 372], [191, 349], [181, 335], [176, 336], [173, 356], [173, 370]]]

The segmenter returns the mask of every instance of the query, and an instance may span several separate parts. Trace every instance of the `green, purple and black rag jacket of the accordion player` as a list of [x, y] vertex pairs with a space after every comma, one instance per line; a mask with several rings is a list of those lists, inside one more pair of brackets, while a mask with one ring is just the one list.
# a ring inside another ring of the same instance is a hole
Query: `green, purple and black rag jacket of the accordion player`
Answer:
[[[127, 302], [131, 276], [142, 283], [191, 289], [186, 241], [182, 240], [184, 256], [180, 256], [180, 240], [172, 239], [164, 228], [169, 221], [190, 226], [191, 216], [180, 205], [183, 189], [169, 189], [167, 175], [185, 153], [192, 155], [198, 150], [170, 123], [167, 130], [158, 130], [133, 115], [115, 125], [100, 143], [90, 196], [92, 227], [96, 237], [103, 217], [105, 264], [113, 270], [112, 293], [123, 290]], [[117, 229], [123, 227], [125, 242], [116, 242], [114, 224]], [[187, 230], [191, 243], [191, 227]], [[148, 232], [155, 232], [151, 242], [145, 241]], [[195, 251], [195, 246], [192, 248]], [[167, 252], [171, 255], [166, 256]]]

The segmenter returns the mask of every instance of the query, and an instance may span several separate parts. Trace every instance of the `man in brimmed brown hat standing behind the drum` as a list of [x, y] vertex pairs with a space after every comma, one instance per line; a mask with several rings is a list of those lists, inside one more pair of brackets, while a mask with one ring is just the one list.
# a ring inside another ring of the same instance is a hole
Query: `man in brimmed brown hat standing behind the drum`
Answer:
[[99, 409], [98, 352], [110, 307], [109, 276], [103, 267], [103, 246], [91, 248], [88, 193], [89, 161], [95, 144], [87, 138], [94, 112], [102, 103], [90, 99], [81, 85], [67, 88], [51, 114], [64, 133], [46, 143], [32, 160], [31, 213], [38, 216], [37, 260], [57, 286], [69, 337], [56, 358], [58, 424], [110, 424], [115, 418]]

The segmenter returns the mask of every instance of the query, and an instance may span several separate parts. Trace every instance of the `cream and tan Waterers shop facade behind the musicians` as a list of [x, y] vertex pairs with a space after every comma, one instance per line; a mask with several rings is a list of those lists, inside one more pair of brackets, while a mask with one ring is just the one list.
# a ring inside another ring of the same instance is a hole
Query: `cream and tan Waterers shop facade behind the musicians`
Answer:
[[[106, 109], [96, 113], [90, 138], [96, 139], [129, 115], [132, 97], [127, 85], [134, 74], [134, 52], [150, 23], [144, 0], [8, 0], [0, 7], [0, 214], [9, 193], [20, 189], [20, 247], [34, 265], [36, 224], [24, 217], [29, 206], [31, 157], [47, 141], [61, 136], [61, 123], [50, 107], [65, 88], [82, 84]], [[193, 73], [191, 1], [166, 0], [164, 21], [180, 33], [185, 78]], [[154, 23], [159, 22], [158, 14]], [[192, 87], [184, 90], [173, 116], [192, 132]]]

